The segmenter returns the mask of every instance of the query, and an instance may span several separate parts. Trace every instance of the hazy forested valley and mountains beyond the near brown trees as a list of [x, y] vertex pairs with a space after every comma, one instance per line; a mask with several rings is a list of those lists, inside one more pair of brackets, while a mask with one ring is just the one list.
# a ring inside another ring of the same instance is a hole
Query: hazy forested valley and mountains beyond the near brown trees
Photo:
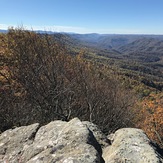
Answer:
[[162, 90], [162, 35], [73, 34], [70, 37], [85, 45], [98, 62], [105, 62], [112, 68], [118, 68], [123, 75]]

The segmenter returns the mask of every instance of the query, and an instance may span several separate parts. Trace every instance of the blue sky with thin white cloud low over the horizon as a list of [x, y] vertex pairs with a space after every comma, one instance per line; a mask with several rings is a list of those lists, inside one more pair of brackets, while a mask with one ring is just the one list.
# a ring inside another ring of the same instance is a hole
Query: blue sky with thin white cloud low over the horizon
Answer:
[[163, 34], [163, 0], [0, 0], [0, 29]]

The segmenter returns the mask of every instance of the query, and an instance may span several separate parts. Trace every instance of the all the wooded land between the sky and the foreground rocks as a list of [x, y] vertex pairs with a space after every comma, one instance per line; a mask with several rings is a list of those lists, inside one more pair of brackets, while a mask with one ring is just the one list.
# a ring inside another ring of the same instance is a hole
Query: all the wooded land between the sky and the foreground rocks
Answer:
[[73, 117], [163, 142], [163, 37], [0, 34], [0, 131]]

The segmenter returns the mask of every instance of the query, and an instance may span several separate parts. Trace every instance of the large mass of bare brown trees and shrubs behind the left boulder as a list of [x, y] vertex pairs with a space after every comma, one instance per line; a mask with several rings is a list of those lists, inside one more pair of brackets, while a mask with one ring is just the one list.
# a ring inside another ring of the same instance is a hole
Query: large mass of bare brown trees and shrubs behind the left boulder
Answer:
[[3, 39], [0, 130], [73, 117], [112, 132], [133, 126], [133, 103], [118, 76], [68, 54], [49, 35], [10, 29]]

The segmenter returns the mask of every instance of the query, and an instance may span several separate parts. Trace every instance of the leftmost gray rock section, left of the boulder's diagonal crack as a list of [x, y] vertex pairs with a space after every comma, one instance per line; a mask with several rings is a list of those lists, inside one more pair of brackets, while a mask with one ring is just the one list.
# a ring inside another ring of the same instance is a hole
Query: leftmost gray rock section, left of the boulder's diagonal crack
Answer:
[[0, 162], [20, 162], [23, 149], [32, 144], [39, 124], [7, 130], [0, 135]]

